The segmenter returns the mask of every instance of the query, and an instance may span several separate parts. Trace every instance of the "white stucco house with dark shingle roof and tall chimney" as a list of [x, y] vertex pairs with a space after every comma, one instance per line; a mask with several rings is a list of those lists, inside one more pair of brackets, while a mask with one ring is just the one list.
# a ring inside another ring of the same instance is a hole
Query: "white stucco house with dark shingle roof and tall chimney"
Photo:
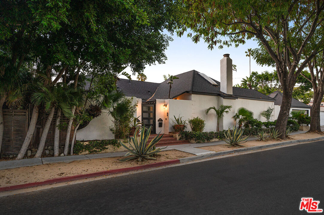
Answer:
[[[133, 101], [138, 104], [134, 117], [140, 116], [145, 126], [152, 126], [154, 134], [159, 132], [168, 134], [173, 131], [174, 123], [171, 119], [174, 115], [180, 115], [182, 119], [203, 117], [206, 121], [204, 131], [215, 131], [215, 113], [210, 112], [206, 115], [205, 110], [211, 106], [217, 108], [220, 104], [232, 105], [230, 113], [225, 114], [220, 122], [220, 130], [233, 127], [235, 121], [232, 117], [240, 107], [253, 111], [254, 118], [262, 122], [265, 119], [260, 113], [268, 107], [275, 108], [272, 120], [277, 118], [276, 113], [279, 113], [280, 106], [276, 104], [275, 96], [267, 96], [256, 90], [233, 87], [232, 59], [229, 54], [225, 54], [220, 60], [220, 74], [220, 82], [196, 70], [177, 74], [179, 79], [173, 81], [170, 99], [168, 99], [168, 80], [153, 83], [121, 79], [117, 82], [117, 88], [122, 90], [126, 96], [133, 97]], [[88, 126], [78, 130], [76, 138], [78, 140], [111, 139], [114, 136], [109, 130], [110, 126], [110, 116], [101, 114]]]

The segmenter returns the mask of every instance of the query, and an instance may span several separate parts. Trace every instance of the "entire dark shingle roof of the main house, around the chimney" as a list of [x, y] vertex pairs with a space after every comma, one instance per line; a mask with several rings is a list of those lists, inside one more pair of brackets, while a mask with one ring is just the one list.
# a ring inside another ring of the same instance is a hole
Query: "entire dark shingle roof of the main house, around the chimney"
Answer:
[[[170, 97], [175, 98], [182, 93], [190, 92], [197, 94], [215, 94], [222, 97], [244, 97], [273, 101], [271, 97], [264, 95], [259, 91], [238, 87], [233, 87], [233, 95], [228, 95], [220, 91], [221, 83], [219, 81], [212, 79], [218, 84], [218, 86], [212, 85], [198, 73], [199, 72], [196, 70], [191, 70], [176, 75], [179, 79], [173, 80]], [[168, 80], [163, 81], [162, 83], [146, 81], [131, 81], [131, 83], [129, 83], [128, 79], [121, 79], [121, 81], [117, 81], [117, 86], [124, 91], [126, 96], [135, 96], [142, 99], [168, 99], [170, 86], [167, 82]], [[148, 90], [150, 90], [151, 93], [147, 93]]]

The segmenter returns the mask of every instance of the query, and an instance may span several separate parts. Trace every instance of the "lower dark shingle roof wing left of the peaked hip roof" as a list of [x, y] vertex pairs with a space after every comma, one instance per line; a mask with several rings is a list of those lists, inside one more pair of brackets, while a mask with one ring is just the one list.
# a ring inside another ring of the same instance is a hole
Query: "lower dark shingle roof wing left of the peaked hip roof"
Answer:
[[149, 99], [156, 91], [159, 83], [120, 79], [117, 88], [122, 90], [126, 96], [134, 96], [141, 99]]

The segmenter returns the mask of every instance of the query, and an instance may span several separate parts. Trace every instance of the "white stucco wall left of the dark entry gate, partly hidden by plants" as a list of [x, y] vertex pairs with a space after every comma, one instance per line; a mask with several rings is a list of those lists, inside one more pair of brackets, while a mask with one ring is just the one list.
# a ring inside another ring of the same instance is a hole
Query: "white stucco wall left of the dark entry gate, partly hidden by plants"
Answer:
[[[132, 98], [132, 97], [127, 97]], [[136, 97], [133, 97], [133, 104], [136, 103]], [[142, 104], [142, 100], [138, 103], [138, 109]], [[141, 113], [137, 109], [134, 114], [134, 117], [137, 117], [138, 113]], [[114, 139], [114, 134], [110, 131], [109, 127], [112, 126], [113, 118], [107, 113], [102, 112], [100, 116], [91, 120], [91, 122], [85, 127], [76, 132], [77, 140], [106, 140], [106, 139]]]

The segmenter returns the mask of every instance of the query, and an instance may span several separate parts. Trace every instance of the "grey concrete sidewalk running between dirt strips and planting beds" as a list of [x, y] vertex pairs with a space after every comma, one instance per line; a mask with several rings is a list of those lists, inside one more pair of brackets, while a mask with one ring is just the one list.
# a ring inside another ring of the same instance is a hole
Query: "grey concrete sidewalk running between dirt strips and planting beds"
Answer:
[[[306, 133], [305, 131], [296, 131], [294, 134]], [[249, 137], [248, 140], [255, 140], [256, 137]], [[205, 155], [214, 153], [214, 151], [208, 151], [204, 149], [199, 149], [196, 147], [210, 146], [210, 145], [221, 145], [225, 144], [224, 140], [219, 140], [215, 142], [208, 143], [193, 143], [193, 144], [182, 144], [182, 145], [168, 145], [167, 148], [162, 149], [166, 150], [178, 150], [182, 152], [191, 153], [193, 155]], [[163, 146], [161, 146], [163, 147]], [[72, 162], [77, 160], [87, 160], [87, 159], [96, 159], [96, 158], [105, 158], [105, 157], [121, 157], [124, 156], [127, 152], [110, 152], [110, 153], [98, 153], [98, 154], [88, 154], [88, 155], [71, 155], [71, 156], [59, 156], [59, 157], [43, 157], [43, 158], [27, 158], [21, 160], [8, 160], [0, 162], [1, 169], [12, 169], [17, 167], [29, 167], [35, 165], [49, 164], [49, 163], [59, 163], [59, 162]]]

